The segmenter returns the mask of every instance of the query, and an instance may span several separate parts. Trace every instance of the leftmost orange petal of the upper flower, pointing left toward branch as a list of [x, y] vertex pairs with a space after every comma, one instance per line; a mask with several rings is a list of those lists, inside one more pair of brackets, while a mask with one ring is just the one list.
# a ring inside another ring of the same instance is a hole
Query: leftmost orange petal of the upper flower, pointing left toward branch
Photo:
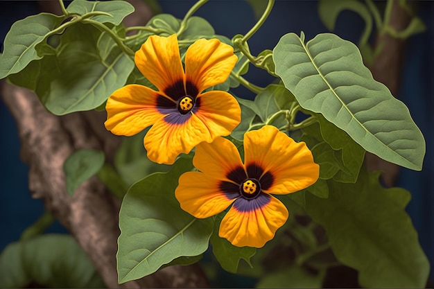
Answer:
[[113, 92], [105, 110], [105, 128], [117, 135], [132, 136], [153, 125], [164, 114], [157, 110], [157, 91], [142, 85], [126, 85]]

